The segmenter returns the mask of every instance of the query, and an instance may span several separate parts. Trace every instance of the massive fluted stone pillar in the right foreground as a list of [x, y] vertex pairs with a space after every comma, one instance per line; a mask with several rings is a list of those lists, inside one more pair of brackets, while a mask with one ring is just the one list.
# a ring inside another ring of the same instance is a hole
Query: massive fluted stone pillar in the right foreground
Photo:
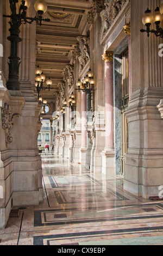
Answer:
[[[161, 1], [131, 1], [131, 84], [132, 94], [126, 112], [128, 151], [124, 163], [124, 189], [143, 198], [158, 196], [163, 184], [163, 123], [156, 106], [163, 97], [163, 58], [159, 57], [162, 39], [147, 37], [142, 16], [147, 7]], [[154, 28], [154, 25], [153, 25]]]

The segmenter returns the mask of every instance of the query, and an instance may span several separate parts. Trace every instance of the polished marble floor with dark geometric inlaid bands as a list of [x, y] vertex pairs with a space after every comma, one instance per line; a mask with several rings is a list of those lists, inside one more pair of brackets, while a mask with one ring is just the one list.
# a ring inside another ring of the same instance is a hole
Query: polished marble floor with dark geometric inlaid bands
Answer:
[[[20, 207], [0, 245], [163, 245], [163, 202], [123, 191], [103, 177], [42, 154], [43, 202]], [[17, 208], [16, 208], [17, 209]]]

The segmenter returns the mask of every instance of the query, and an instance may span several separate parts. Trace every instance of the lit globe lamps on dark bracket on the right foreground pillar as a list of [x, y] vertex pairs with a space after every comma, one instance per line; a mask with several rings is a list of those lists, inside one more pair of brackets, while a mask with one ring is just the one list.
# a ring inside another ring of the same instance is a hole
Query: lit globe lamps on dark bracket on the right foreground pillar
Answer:
[[[160, 38], [163, 38], [163, 29], [160, 27], [160, 23], [163, 20], [163, 3], [161, 4], [160, 8], [157, 7], [155, 9], [154, 15], [151, 13], [151, 10], [147, 9], [145, 11], [145, 15], [142, 18], [143, 25], [146, 26], [147, 29], [141, 29], [140, 32], [146, 32], [147, 36], [149, 37], [149, 34], [152, 33], [155, 36], [160, 36]], [[155, 23], [156, 29], [151, 30], [152, 23]]]

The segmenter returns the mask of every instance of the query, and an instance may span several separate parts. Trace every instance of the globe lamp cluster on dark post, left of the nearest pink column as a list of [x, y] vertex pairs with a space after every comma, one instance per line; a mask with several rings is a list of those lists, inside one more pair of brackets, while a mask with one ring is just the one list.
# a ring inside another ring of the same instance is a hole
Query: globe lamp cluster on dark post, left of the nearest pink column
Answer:
[[87, 75], [84, 77], [83, 82], [81, 82], [80, 80], [78, 80], [77, 82], [77, 87], [79, 92], [80, 90], [82, 90], [83, 92], [86, 93], [87, 95], [87, 121], [91, 121], [92, 120], [92, 107], [91, 107], [91, 98], [92, 98], [92, 91], [95, 90], [94, 89], [94, 85], [95, 85], [95, 79], [93, 78], [94, 74], [91, 71], [91, 69], [87, 72]]

